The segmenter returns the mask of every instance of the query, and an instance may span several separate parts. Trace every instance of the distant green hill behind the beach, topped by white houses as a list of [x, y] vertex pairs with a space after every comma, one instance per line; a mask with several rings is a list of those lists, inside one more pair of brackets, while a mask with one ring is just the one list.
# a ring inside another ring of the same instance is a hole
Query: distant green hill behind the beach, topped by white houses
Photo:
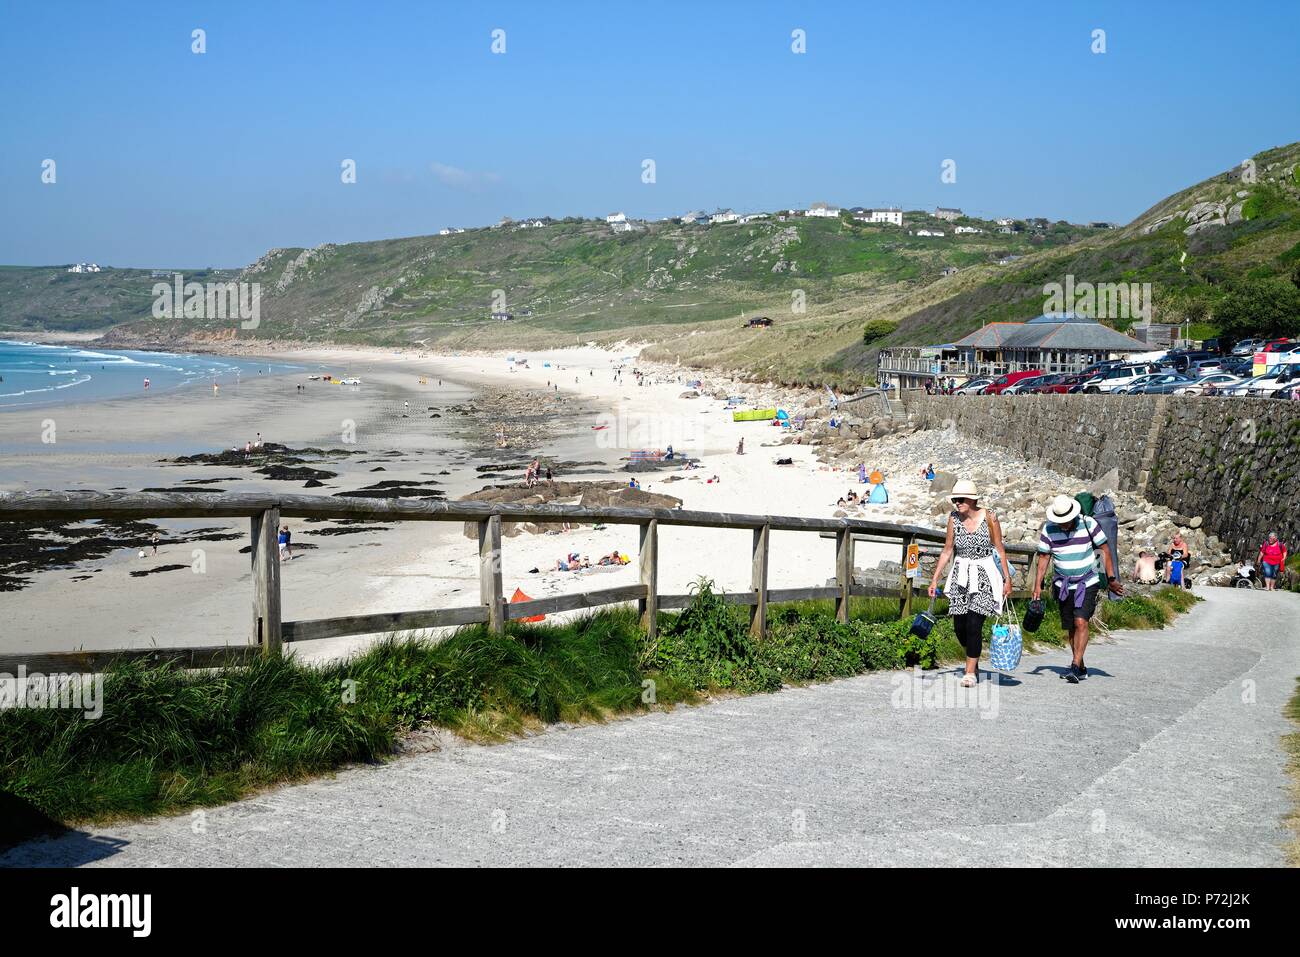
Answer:
[[[534, 346], [673, 338], [741, 313], [797, 316], [840, 296], [919, 289], [945, 267], [1060, 246], [1084, 230], [944, 238], [848, 218], [748, 225], [645, 224], [614, 233], [597, 221], [503, 226], [454, 235], [273, 250], [237, 278], [261, 285], [261, 325], [240, 338], [296, 338], [430, 347]], [[490, 317], [497, 302], [514, 319]], [[147, 312], [147, 311], [146, 311]], [[230, 322], [144, 320], [116, 337], [176, 341], [230, 332]]]

